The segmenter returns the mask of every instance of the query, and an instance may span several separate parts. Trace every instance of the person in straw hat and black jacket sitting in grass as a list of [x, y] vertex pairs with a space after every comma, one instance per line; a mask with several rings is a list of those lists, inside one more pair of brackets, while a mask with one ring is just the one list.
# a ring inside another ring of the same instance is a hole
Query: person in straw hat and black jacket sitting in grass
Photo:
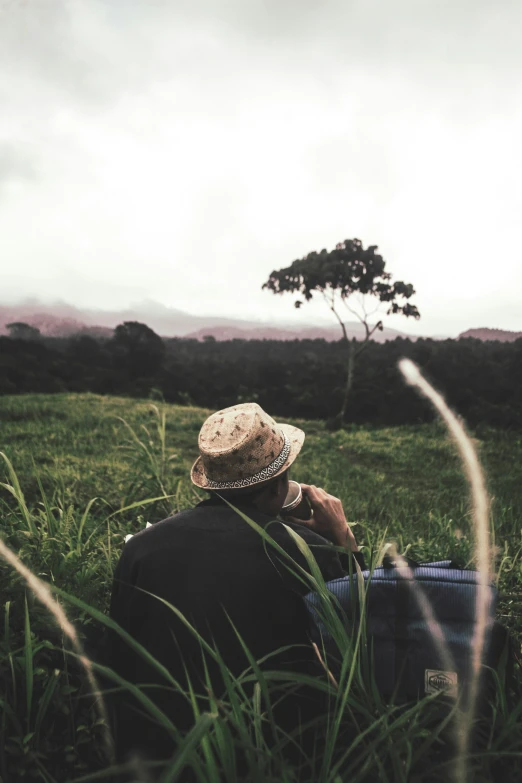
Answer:
[[[155, 684], [141, 690], [180, 732], [194, 721], [193, 707], [182, 693], [188, 683], [202, 711], [209, 709], [209, 689], [219, 698], [225, 687], [218, 664], [203, 652], [200, 639], [178, 612], [219, 652], [235, 677], [250, 665], [245, 648], [256, 661], [270, 656], [263, 665], [271, 670], [323, 673], [309, 640], [302, 600], [309, 587], [245, 520], [246, 516], [265, 529], [308, 571], [291, 534], [277, 519], [288, 492], [289, 469], [304, 438], [302, 430], [276, 423], [256, 403], [214, 413], [201, 428], [200, 456], [191, 472], [192, 482], [209, 498], [142, 530], [123, 549], [110, 615], [171, 672], [179, 688], [167, 683], [114, 632], [107, 662], [133, 684]], [[324, 579], [349, 572], [350, 557], [364, 569], [341, 501], [324, 489], [301, 486], [312, 516], [285, 518], [284, 524], [311, 547]], [[301, 693], [282, 700], [278, 721], [289, 729], [314, 709], [313, 699]], [[143, 707], [134, 697], [114, 699], [120, 759], [131, 752], [155, 759], [171, 755], [172, 738], [140, 713]]]

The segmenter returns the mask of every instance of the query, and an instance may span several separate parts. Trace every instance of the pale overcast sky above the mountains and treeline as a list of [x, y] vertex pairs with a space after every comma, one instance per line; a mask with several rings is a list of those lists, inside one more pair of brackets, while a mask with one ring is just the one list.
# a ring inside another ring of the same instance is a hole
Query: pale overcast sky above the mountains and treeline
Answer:
[[357, 237], [419, 322], [522, 330], [520, 0], [0, 0], [0, 301], [295, 321]]

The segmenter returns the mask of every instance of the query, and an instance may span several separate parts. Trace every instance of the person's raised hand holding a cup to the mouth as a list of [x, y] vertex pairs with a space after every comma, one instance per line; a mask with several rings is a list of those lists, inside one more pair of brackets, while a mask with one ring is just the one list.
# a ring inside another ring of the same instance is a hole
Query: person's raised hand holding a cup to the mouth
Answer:
[[329, 495], [320, 487], [309, 484], [301, 484], [301, 489], [310, 502], [313, 515], [311, 519], [292, 519], [292, 521], [313, 530], [336, 546], [344, 546], [352, 552], [358, 552], [357, 541], [346, 521], [343, 504], [339, 498]]

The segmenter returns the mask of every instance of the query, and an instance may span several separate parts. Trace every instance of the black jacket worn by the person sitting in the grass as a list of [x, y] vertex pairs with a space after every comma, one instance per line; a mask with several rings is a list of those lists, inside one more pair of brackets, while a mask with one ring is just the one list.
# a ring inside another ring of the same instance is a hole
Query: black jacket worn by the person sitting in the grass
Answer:
[[[280, 521], [253, 506], [236, 505], [306, 568]], [[347, 555], [340, 558], [329, 542], [306, 527], [286, 524], [310, 545], [326, 580], [344, 575], [349, 567]], [[360, 555], [358, 559], [364, 567]], [[111, 617], [166, 666], [182, 687], [186, 687], [187, 672], [197, 693], [206, 692], [200, 642], [164, 603], [143, 591], [176, 607], [208, 643], [215, 645], [235, 676], [249, 663], [234, 627], [256, 660], [292, 646], [270, 659], [267, 668], [315, 673], [317, 659], [308, 639], [302, 600], [310, 588], [291, 575], [283, 562], [284, 558], [264, 544], [236, 511], [212, 496], [130, 539], [114, 574]], [[223, 682], [219, 668], [211, 657], [205, 659], [212, 689], [220, 695]], [[162, 682], [114, 633], [108, 663], [130, 682]], [[192, 708], [186, 698], [165, 689], [146, 692], [180, 730], [190, 726]], [[134, 729], [131, 727], [128, 707], [126, 701], [116, 702], [116, 722], [126, 721], [123, 732], [116, 726], [120, 756], [140, 743], [149, 755], [160, 757], [170, 752], [165, 749], [163, 753], [158, 733], [147, 733], [137, 719], [133, 719]], [[208, 703], [203, 708], [208, 709]]]

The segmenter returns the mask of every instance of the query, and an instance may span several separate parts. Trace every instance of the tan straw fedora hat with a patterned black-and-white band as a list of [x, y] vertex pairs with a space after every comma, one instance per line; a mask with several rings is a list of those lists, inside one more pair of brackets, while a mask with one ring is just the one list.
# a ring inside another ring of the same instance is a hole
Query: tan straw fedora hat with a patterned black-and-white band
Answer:
[[201, 489], [241, 489], [284, 473], [303, 445], [305, 434], [277, 424], [255, 402], [213, 413], [198, 439], [200, 456], [190, 477]]

